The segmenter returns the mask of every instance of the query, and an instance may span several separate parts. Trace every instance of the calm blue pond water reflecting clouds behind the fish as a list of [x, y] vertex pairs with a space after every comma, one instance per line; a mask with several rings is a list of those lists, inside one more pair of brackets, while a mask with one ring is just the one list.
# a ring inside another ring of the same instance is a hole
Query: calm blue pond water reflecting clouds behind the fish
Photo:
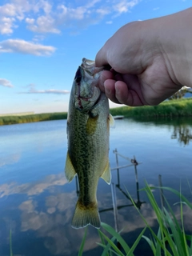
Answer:
[[[0, 126], [0, 255], [10, 255], [10, 237], [14, 255], [77, 255], [84, 229], [70, 226], [78, 199], [75, 178], [68, 183], [64, 174], [66, 161], [66, 120]], [[145, 181], [176, 190], [191, 201], [192, 119], [116, 120], [110, 129], [110, 166], [116, 167], [113, 151], [126, 158], [136, 158], [134, 166], [112, 170], [112, 182], [118, 206], [118, 230], [131, 246], [145, 226], [127, 197], [134, 202], [150, 226], [157, 227], [154, 211], [144, 191]], [[118, 156], [119, 166], [130, 162]], [[178, 198], [164, 191], [179, 215]], [[160, 205], [159, 191], [154, 196]], [[102, 222], [114, 227], [111, 186], [100, 179], [98, 207]], [[186, 231], [192, 231], [190, 210], [185, 210]], [[146, 232], [146, 235], [149, 233]], [[98, 231], [89, 226], [83, 255], [100, 255]], [[135, 255], [152, 255], [142, 239]]]

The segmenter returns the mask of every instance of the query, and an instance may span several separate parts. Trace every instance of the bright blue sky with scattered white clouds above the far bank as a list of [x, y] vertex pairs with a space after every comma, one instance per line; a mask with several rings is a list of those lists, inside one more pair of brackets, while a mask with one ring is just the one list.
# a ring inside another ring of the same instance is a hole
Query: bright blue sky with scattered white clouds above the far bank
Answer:
[[127, 22], [190, 6], [191, 0], [1, 0], [0, 114], [68, 110], [83, 57], [94, 60]]

